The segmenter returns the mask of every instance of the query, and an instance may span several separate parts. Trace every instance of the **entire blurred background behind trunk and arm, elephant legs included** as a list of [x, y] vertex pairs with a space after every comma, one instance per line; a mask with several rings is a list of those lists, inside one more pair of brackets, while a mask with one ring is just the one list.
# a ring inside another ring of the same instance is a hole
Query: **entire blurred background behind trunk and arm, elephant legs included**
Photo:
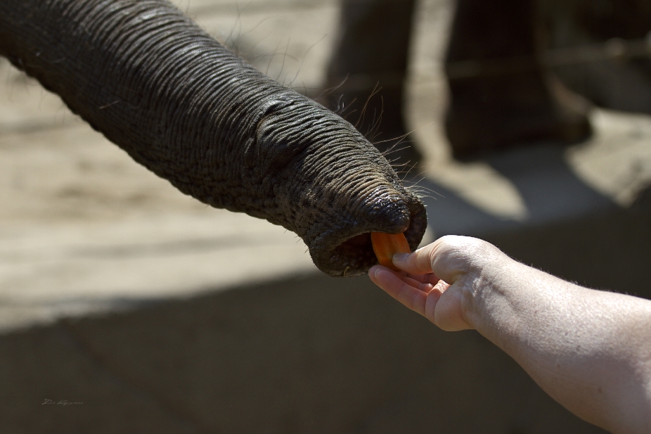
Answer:
[[[351, 122], [366, 105], [424, 192], [423, 243], [651, 297], [647, 1], [175, 3]], [[8, 433], [601, 432], [477, 333], [183, 196], [3, 58], [0, 203]]]

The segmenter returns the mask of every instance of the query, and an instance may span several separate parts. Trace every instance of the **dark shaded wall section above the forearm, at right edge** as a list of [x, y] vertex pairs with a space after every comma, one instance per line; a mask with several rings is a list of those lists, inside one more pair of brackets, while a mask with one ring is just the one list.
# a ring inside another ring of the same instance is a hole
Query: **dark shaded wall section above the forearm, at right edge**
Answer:
[[648, 198], [627, 210], [605, 210], [482, 238], [525, 264], [582, 286], [651, 299]]

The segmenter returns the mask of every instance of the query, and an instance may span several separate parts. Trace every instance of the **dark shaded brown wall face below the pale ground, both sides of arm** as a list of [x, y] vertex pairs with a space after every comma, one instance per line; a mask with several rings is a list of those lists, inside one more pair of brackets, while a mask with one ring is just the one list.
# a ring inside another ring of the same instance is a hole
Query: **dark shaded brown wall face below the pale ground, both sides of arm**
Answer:
[[[650, 217], [642, 203], [484, 238], [649, 297]], [[2, 336], [0, 400], [7, 433], [601, 432], [474, 331], [316, 274]]]

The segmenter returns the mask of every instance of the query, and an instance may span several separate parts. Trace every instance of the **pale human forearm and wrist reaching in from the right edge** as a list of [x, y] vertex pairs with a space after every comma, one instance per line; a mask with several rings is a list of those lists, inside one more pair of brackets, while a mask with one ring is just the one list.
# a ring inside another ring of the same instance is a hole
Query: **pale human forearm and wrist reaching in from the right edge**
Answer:
[[616, 433], [651, 430], [651, 302], [593, 291], [508, 259], [487, 262], [470, 325], [552, 397]]

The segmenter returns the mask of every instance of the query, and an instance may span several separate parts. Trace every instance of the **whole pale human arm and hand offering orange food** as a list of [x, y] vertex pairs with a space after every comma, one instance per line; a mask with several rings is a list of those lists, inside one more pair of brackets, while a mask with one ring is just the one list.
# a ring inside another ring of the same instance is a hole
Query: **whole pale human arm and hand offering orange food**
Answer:
[[557, 279], [477, 238], [444, 236], [393, 262], [404, 272], [368, 274], [406, 307], [479, 331], [581, 419], [651, 433], [650, 300]]

